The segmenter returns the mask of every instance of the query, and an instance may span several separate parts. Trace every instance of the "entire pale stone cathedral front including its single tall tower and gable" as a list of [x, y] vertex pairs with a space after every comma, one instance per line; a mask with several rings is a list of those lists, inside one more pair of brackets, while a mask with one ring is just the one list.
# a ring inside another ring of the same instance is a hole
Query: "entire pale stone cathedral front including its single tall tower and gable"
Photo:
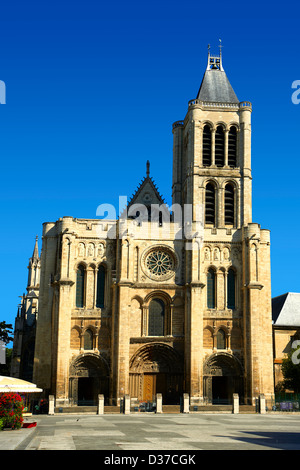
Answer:
[[125, 217], [43, 225], [33, 382], [57, 405], [273, 394], [270, 233], [252, 221], [251, 112], [209, 53], [173, 124], [172, 208], [147, 164]]

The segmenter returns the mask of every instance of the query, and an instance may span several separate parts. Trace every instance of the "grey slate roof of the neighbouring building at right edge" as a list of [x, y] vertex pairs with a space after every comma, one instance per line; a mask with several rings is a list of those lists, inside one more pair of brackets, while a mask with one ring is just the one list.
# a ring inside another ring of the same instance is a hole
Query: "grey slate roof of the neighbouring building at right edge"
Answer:
[[287, 292], [272, 299], [272, 320], [277, 326], [300, 326], [300, 293]]

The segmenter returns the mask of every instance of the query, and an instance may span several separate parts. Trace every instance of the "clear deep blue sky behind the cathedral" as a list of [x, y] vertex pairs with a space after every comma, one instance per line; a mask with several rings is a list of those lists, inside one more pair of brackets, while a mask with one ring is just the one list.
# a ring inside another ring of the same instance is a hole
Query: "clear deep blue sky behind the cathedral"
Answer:
[[[42, 223], [131, 197], [146, 161], [171, 203], [172, 123], [218, 51], [252, 113], [253, 221], [271, 230], [272, 295], [299, 292], [299, 6], [11, 1], [1, 7], [1, 319], [14, 323]], [[293, 246], [291, 246], [293, 245]], [[40, 241], [41, 247], [41, 241]]]

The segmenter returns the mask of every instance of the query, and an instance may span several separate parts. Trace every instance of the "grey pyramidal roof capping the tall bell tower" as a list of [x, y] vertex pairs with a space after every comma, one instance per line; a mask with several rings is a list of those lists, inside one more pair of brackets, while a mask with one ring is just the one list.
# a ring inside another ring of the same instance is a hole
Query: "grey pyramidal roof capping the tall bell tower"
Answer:
[[197, 95], [200, 101], [218, 103], [239, 103], [223, 69], [222, 56], [208, 53], [207, 68]]

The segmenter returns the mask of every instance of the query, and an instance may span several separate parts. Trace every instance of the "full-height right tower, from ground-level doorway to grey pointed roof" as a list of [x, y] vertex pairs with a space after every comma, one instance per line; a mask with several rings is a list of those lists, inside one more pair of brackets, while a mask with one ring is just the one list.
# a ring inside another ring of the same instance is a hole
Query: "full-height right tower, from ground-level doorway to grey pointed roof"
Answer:
[[273, 393], [270, 236], [252, 222], [251, 114], [221, 44], [218, 54], [209, 47], [198, 94], [173, 124], [172, 202], [192, 207], [192, 222], [200, 213], [203, 227], [185, 272], [185, 368], [197, 403]]

